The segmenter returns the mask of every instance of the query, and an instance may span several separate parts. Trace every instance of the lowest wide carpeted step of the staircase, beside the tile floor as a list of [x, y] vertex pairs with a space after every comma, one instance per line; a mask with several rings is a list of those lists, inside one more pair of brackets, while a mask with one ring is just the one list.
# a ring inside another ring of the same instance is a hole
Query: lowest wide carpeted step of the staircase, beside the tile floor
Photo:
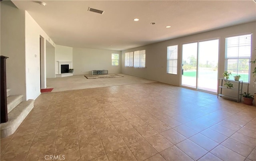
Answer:
[[8, 122], [1, 123], [1, 138], [13, 134], [34, 107], [34, 100], [21, 102], [8, 114]]

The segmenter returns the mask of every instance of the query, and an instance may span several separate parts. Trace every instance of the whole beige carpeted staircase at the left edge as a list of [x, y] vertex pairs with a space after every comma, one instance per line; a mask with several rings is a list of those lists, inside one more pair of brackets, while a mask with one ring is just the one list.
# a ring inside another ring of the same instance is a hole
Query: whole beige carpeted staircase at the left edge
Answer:
[[8, 122], [1, 123], [1, 138], [13, 134], [34, 107], [34, 100], [22, 102], [22, 95], [10, 96], [10, 89], [7, 94]]

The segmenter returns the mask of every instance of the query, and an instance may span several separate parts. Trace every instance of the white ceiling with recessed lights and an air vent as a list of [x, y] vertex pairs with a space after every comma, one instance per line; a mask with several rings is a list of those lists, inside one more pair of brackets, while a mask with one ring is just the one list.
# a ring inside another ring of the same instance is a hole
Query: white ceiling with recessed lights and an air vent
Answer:
[[[43, 0], [46, 6], [32, 0], [12, 2], [27, 10], [54, 43], [81, 48], [124, 50], [256, 21], [253, 0]], [[105, 12], [88, 12], [88, 7]]]

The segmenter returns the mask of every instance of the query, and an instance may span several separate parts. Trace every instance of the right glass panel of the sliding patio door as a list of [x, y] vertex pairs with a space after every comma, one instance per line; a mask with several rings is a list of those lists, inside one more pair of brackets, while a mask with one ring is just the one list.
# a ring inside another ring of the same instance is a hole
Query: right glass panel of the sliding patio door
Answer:
[[219, 40], [199, 42], [198, 89], [217, 92]]

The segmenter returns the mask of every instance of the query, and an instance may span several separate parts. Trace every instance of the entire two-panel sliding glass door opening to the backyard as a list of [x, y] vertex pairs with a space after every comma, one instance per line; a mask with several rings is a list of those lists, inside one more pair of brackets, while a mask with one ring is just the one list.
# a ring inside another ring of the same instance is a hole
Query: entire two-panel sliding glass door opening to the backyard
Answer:
[[182, 45], [182, 86], [217, 92], [219, 40]]

